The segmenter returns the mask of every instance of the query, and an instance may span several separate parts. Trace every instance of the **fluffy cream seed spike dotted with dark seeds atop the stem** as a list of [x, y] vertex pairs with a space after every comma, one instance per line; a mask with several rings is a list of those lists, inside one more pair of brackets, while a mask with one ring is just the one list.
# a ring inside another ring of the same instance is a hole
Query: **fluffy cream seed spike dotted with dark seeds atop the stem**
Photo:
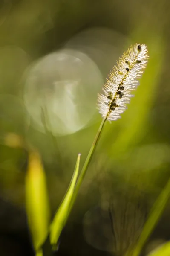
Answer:
[[120, 114], [130, 103], [131, 91], [138, 86], [138, 79], [141, 77], [147, 65], [149, 55], [145, 44], [131, 46], [122, 57], [119, 58], [117, 66], [109, 74], [104, 84], [104, 94], [98, 95], [99, 113], [109, 121], [117, 120]]

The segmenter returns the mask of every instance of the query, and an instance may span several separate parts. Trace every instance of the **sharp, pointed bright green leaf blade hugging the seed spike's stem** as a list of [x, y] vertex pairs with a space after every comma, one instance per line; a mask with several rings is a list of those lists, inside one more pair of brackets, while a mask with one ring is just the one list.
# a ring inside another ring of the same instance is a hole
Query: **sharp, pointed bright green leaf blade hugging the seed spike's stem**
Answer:
[[77, 162], [75, 165], [75, 171], [72, 176], [72, 180], [70, 182], [69, 188], [50, 226], [50, 243], [52, 244], [53, 250], [56, 250], [58, 246], [57, 243], [58, 243], [59, 236], [61, 234], [61, 231], [63, 230], [63, 227], [66, 224], [67, 218], [69, 216], [69, 212], [71, 210], [71, 206], [72, 206], [71, 201], [72, 201], [75, 184], [78, 177], [79, 163], [80, 163], [80, 154], [78, 154]]

